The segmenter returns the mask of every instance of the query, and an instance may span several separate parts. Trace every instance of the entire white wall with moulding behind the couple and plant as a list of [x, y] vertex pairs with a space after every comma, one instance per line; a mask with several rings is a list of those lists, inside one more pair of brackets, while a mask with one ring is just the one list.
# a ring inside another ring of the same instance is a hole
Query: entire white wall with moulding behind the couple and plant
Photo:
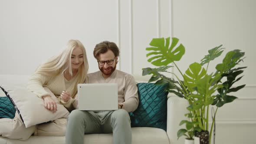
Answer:
[[[69, 39], [85, 45], [89, 72], [98, 70], [95, 44], [117, 43], [118, 69], [133, 75], [152, 67], [145, 50], [152, 38], [180, 39], [186, 48], [177, 62], [182, 71], [220, 44], [226, 47], [223, 56], [241, 49], [246, 52], [242, 65], [248, 68], [239, 84], [246, 87], [235, 94], [238, 100], [219, 110], [217, 144], [245, 144], [246, 138], [256, 137], [245, 132], [256, 127], [255, 7], [255, 0], [0, 0], [0, 75], [31, 75]], [[223, 56], [211, 63], [210, 71]], [[223, 137], [222, 128], [232, 131]], [[233, 138], [239, 135], [243, 138]]]

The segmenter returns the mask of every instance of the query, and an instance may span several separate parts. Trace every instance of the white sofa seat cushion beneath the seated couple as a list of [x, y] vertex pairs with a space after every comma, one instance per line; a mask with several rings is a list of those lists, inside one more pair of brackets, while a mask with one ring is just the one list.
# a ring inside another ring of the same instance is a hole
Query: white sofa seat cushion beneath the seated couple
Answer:
[[[170, 144], [164, 130], [159, 128], [131, 128], [132, 144]], [[65, 136], [31, 136], [26, 141], [0, 137], [0, 144], [65, 144]], [[84, 144], [113, 144], [113, 134], [85, 134]], [[173, 144], [173, 143], [171, 143]]]

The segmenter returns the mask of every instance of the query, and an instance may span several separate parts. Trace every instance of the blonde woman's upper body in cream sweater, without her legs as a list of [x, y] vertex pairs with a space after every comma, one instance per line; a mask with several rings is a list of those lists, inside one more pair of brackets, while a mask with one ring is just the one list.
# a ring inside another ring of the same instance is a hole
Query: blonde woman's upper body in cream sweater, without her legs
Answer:
[[49, 88], [59, 102], [71, 111], [77, 84], [85, 82], [88, 68], [85, 47], [79, 40], [69, 40], [66, 49], [59, 56], [39, 66], [31, 76], [27, 88], [43, 98], [45, 108], [55, 112], [56, 102], [43, 87]]

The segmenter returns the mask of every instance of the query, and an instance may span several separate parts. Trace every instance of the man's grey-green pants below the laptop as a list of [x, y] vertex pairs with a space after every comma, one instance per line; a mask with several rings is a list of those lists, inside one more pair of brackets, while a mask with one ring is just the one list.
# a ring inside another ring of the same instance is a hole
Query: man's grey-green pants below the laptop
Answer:
[[83, 144], [84, 134], [113, 133], [113, 144], [131, 144], [131, 120], [118, 109], [101, 121], [92, 111], [73, 110], [68, 117], [66, 144]]

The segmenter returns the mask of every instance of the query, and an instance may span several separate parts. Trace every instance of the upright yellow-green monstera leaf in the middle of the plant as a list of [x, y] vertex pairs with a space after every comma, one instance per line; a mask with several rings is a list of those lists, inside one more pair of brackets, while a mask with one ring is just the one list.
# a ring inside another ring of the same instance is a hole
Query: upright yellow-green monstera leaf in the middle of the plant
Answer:
[[206, 70], [197, 62], [189, 65], [189, 69], [186, 70], [184, 75], [184, 84], [188, 87], [190, 92], [194, 92], [198, 80], [200, 80], [206, 74]]

